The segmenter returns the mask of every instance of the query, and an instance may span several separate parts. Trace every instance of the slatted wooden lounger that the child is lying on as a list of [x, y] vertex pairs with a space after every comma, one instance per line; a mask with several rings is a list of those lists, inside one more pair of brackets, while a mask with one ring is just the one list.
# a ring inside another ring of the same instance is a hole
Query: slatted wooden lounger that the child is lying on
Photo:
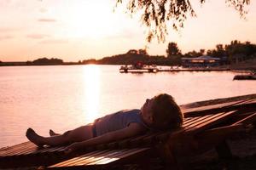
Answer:
[[[99, 144], [96, 147], [89, 147], [86, 150], [83, 150], [83, 153], [94, 150], [119, 150], [125, 148], [152, 147], [154, 144], [164, 142], [170, 134], [174, 136], [178, 133], [182, 133], [183, 131], [199, 132], [207, 127], [211, 127], [213, 124], [222, 122], [224, 119], [228, 119], [232, 115], [234, 115], [234, 111], [216, 115], [187, 118], [184, 122], [183, 129], [175, 132], [148, 133], [138, 136], [137, 138], [124, 139], [110, 144]], [[207, 123], [205, 123], [204, 126], [198, 127], [202, 122]], [[63, 149], [64, 146], [38, 149], [38, 147], [31, 142], [18, 144], [16, 146], [0, 150], [0, 167], [49, 166], [53, 163], [72, 158], [72, 156], [64, 156]]]

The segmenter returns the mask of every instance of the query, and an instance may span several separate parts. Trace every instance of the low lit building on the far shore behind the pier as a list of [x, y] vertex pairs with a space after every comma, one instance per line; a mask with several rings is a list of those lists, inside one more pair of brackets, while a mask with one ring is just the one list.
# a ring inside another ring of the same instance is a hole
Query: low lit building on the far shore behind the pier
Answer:
[[218, 66], [221, 63], [220, 58], [211, 57], [211, 56], [200, 56], [196, 58], [182, 58], [182, 65], [184, 67], [210, 67], [210, 66]]

